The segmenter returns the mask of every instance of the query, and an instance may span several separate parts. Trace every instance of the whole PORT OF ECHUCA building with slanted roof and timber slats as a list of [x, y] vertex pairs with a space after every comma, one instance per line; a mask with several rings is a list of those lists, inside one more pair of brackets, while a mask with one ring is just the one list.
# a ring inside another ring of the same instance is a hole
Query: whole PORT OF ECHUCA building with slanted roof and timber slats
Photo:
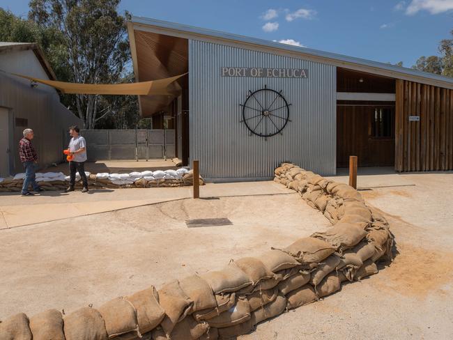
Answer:
[[453, 169], [453, 79], [142, 17], [128, 33], [137, 81], [188, 72], [175, 95], [141, 96], [141, 115], [171, 115], [176, 155], [208, 179], [271, 178], [282, 161], [332, 175], [348, 155]]

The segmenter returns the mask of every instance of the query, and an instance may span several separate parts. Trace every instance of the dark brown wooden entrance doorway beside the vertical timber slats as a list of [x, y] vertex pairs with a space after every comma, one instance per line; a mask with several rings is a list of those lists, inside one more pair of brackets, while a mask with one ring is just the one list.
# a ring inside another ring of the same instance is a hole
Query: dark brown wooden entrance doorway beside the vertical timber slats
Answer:
[[337, 105], [337, 167], [394, 166], [394, 105]]

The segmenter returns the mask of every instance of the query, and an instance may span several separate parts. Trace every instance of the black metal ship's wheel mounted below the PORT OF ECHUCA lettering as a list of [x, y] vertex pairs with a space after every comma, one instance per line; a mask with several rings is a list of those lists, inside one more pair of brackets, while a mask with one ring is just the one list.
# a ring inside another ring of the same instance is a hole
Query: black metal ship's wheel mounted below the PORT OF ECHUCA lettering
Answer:
[[267, 88], [250, 91], [243, 107], [243, 120], [250, 135], [256, 134], [259, 137], [272, 137], [275, 134], [282, 134], [282, 130], [289, 120], [289, 106], [282, 95], [282, 91], [275, 91]]

